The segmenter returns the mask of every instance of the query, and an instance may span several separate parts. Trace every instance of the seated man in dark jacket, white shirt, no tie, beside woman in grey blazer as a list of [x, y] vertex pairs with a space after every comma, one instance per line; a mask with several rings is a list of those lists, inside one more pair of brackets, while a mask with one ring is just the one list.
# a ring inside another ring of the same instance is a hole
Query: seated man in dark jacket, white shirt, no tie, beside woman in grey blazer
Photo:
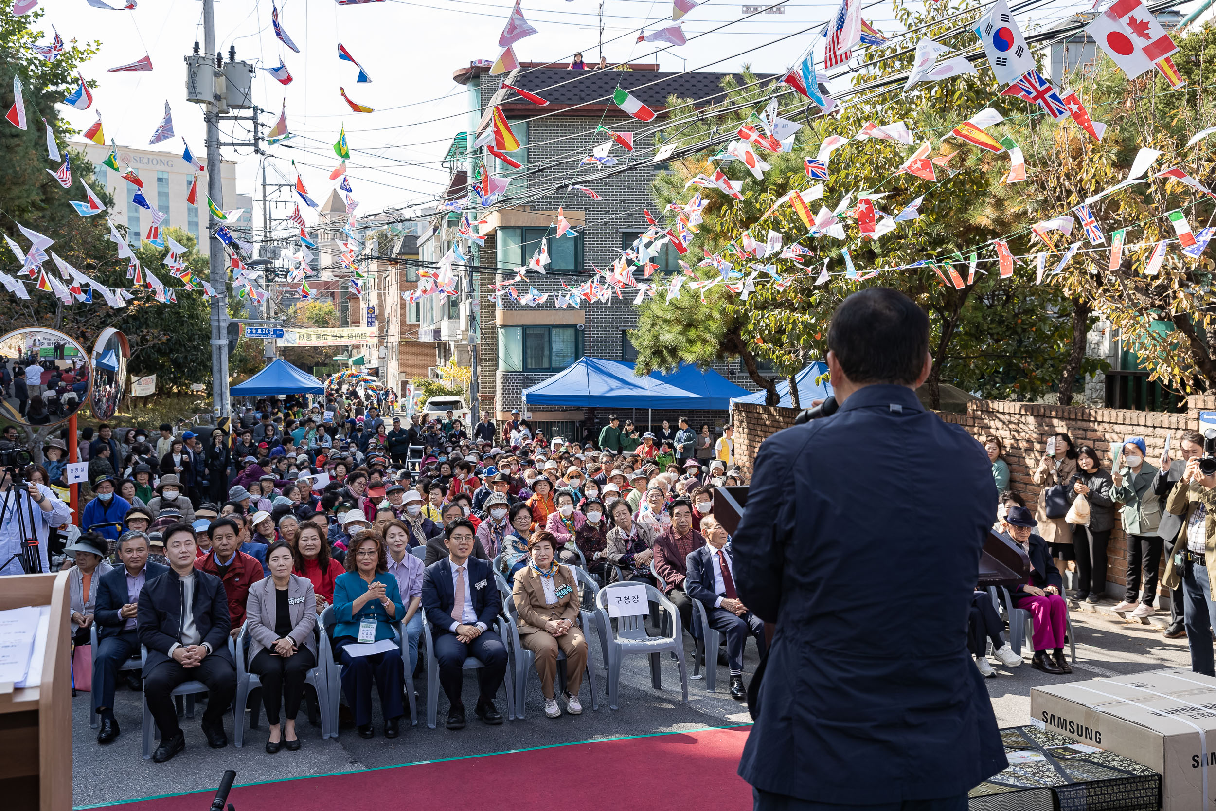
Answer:
[[195, 568], [195, 530], [173, 524], [164, 530], [169, 571], [148, 580], [140, 591], [140, 642], [147, 647], [143, 661], [143, 697], [161, 731], [161, 745], [152, 760], [163, 764], [186, 748], [178, 726], [178, 709], [170, 693], [187, 681], [207, 685], [203, 733], [212, 749], [227, 745], [224, 711], [236, 693], [236, 665], [229, 652], [229, 606], [224, 584]]

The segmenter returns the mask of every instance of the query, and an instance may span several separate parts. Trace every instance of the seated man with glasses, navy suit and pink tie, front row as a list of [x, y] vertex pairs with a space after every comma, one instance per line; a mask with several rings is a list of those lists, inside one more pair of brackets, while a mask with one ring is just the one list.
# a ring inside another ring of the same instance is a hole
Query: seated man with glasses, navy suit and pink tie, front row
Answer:
[[465, 727], [461, 682], [462, 665], [468, 657], [477, 657], [485, 665], [477, 671], [482, 692], [473, 711], [485, 723], [502, 723], [494, 697], [507, 672], [507, 648], [490, 629], [502, 598], [490, 563], [469, 557], [475, 542], [473, 522], [457, 518], [444, 533], [447, 557], [427, 567], [422, 579], [422, 608], [434, 630], [439, 683], [451, 704], [447, 728]]

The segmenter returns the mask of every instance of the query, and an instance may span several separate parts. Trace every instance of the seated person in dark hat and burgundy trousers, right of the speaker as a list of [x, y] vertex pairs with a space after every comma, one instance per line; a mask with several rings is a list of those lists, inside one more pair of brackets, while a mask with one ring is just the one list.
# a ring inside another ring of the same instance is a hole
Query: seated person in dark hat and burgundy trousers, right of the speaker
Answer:
[[1070, 674], [1073, 668], [1064, 658], [1068, 625], [1068, 603], [1060, 596], [1064, 581], [1052, 561], [1047, 541], [1034, 533], [1037, 522], [1025, 507], [1009, 507], [1004, 523], [1009, 526], [1009, 535], [1030, 557], [1030, 575], [1013, 592], [1014, 608], [1030, 612], [1035, 620], [1035, 655], [1030, 666], [1052, 675]]

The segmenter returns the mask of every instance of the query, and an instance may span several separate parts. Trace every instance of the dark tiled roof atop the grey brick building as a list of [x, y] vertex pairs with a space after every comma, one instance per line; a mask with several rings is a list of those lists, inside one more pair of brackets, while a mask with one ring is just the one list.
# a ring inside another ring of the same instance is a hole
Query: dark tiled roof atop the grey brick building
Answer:
[[[726, 97], [726, 91], [722, 90], [722, 79], [728, 75], [732, 74], [540, 68], [522, 72], [513, 84], [548, 101], [550, 106], [545, 108], [545, 112], [587, 102], [597, 107], [604, 103], [612, 105], [610, 96], [618, 85], [647, 107], [660, 109], [666, 106], [668, 96], [672, 94], [681, 98], [692, 98], [698, 107], [720, 103]], [[738, 83], [743, 84], [743, 78], [736, 75]], [[576, 79], [570, 81], [575, 77]], [[608, 97], [607, 102], [603, 101], [606, 97]], [[516, 94], [508, 92], [505, 103], [528, 102]]]

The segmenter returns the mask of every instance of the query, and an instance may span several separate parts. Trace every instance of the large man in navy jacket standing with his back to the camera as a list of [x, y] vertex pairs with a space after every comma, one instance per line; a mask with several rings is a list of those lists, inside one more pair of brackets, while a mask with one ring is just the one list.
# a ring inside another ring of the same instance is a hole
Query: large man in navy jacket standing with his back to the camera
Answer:
[[850, 295], [828, 350], [839, 411], [760, 445], [731, 540], [776, 624], [739, 775], [758, 811], [966, 811], [1008, 766], [967, 649], [991, 463], [917, 399], [929, 319], [906, 295]]

